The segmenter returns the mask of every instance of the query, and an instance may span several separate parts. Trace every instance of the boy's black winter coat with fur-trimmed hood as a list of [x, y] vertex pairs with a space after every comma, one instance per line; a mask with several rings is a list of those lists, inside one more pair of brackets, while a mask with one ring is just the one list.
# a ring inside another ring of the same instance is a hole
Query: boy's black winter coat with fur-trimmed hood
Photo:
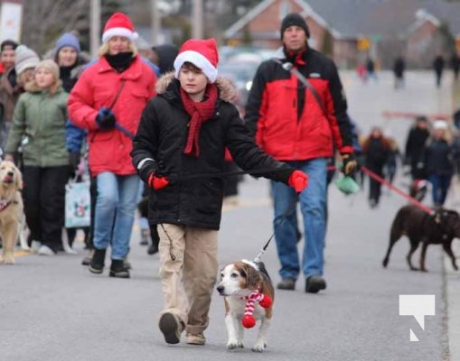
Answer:
[[[294, 171], [254, 143], [237, 108], [230, 104], [235, 94], [230, 82], [220, 78], [217, 86], [220, 97], [215, 115], [202, 125], [200, 155], [195, 158], [183, 153], [190, 116], [183, 108], [179, 81], [168, 73], [157, 82], [157, 96], [144, 109], [131, 153], [136, 169], [150, 158], [170, 180], [163, 189], [151, 192], [150, 224], [219, 229], [224, 180], [210, 174], [224, 171], [225, 147], [245, 171], [285, 183]], [[203, 176], [196, 177], [200, 174]]]

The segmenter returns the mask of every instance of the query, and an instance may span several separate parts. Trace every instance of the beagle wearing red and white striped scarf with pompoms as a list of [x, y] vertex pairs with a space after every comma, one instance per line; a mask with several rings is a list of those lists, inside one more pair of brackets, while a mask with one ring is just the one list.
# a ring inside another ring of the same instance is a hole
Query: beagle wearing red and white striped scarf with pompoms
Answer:
[[[260, 320], [258, 338], [252, 347], [255, 352], [267, 347], [267, 332], [273, 315], [274, 289], [265, 265], [246, 260], [227, 264], [221, 269], [217, 291], [225, 297], [225, 325], [227, 348], [243, 346], [244, 328], [251, 328]], [[246, 322], [249, 318], [249, 323]]]

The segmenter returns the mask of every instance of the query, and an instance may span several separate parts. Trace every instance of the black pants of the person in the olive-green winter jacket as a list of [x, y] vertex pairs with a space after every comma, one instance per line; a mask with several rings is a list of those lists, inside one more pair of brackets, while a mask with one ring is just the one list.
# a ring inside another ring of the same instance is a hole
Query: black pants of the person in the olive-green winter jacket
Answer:
[[64, 227], [65, 185], [69, 166], [23, 167], [23, 201], [31, 239], [57, 251]]

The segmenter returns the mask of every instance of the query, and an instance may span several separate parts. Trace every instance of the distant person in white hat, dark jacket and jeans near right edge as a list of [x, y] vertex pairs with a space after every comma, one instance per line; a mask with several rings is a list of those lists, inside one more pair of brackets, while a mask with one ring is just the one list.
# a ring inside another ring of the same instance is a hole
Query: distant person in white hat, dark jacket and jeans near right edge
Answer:
[[447, 132], [446, 121], [435, 121], [423, 156], [435, 207], [442, 207], [446, 202], [447, 191], [454, 174], [453, 149], [447, 140]]

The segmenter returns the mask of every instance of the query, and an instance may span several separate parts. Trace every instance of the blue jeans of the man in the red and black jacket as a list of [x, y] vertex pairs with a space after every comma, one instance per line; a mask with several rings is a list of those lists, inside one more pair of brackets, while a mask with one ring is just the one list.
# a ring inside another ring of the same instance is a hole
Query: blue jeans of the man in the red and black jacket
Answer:
[[[324, 268], [324, 236], [326, 207], [326, 169], [325, 158], [305, 162], [287, 162], [308, 175], [308, 187], [299, 195], [300, 209], [304, 219], [304, 254], [302, 270], [305, 277], [323, 274]], [[296, 191], [286, 184], [271, 181], [275, 206], [275, 238], [277, 254], [281, 263], [279, 275], [282, 278], [297, 279], [300, 273], [299, 255], [297, 252], [297, 217]], [[286, 214], [286, 209], [289, 208]]]

